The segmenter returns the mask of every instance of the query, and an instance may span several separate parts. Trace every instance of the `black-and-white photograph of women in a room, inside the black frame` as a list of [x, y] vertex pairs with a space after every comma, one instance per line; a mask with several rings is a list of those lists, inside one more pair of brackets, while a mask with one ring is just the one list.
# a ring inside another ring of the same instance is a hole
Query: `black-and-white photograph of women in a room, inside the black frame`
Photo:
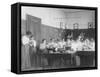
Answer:
[[21, 71], [95, 67], [95, 10], [21, 7]]

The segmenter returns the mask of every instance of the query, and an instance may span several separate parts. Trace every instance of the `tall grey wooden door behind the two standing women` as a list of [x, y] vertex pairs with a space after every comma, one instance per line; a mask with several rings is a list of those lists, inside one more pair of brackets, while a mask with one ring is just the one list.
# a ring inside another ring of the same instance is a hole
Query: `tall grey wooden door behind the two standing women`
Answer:
[[41, 41], [41, 19], [35, 16], [26, 15], [26, 31], [30, 31], [37, 44]]

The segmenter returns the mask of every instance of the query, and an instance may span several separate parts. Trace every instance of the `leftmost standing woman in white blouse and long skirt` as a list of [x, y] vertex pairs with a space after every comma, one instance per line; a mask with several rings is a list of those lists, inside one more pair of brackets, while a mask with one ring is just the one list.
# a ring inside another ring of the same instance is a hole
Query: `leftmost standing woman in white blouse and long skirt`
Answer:
[[31, 32], [26, 32], [26, 35], [22, 36], [22, 69], [30, 68], [30, 56], [29, 56], [29, 47], [30, 47], [30, 36]]

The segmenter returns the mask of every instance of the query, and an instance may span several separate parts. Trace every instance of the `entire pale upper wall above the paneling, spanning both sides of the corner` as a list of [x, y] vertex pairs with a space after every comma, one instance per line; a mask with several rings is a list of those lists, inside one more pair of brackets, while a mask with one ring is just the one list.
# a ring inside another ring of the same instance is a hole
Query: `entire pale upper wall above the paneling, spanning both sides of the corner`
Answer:
[[[94, 24], [94, 11], [79, 10], [79, 9], [57, 9], [43, 7], [22, 7], [22, 19], [26, 19], [26, 14], [36, 16], [42, 19], [42, 24], [52, 27], [60, 27], [66, 25], [68, 29], [73, 29], [74, 23], [79, 23], [79, 28], [88, 27], [88, 22]], [[95, 25], [95, 24], [94, 24]]]

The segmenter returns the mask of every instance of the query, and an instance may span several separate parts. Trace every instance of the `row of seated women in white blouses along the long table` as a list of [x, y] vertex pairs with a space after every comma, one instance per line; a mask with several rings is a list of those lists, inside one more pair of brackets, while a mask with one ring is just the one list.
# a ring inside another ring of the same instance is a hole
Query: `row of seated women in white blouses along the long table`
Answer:
[[95, 51], [95, 41], [93, 38], [82, 40], [81, 36], [77, 40], [64, 39], [55, 40], [50, 39], [47, 42], [46, 39], [42, 40], [40, 44], [40, 50], [49, 53], [75, 53], [76, 51]]

